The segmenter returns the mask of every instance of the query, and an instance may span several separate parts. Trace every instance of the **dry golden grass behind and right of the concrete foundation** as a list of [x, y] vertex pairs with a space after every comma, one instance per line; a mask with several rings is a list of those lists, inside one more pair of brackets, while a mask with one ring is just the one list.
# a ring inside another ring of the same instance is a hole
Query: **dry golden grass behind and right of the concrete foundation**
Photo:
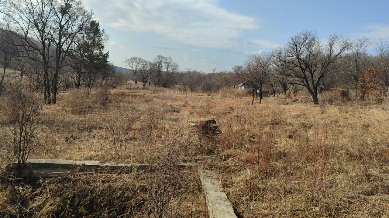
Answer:
[[[251, 97], [234, 92], [141, 91], [114, 90], [107, 106], [84, 101], [75, 112], [78, 94], [60, 95], [45, 108], [44, 146], [33, 157], [154, 163], [174, 145], [179, 161], [218, 173], [241, 217], [389, 217], [389, 112], [382, 107], [315, 107], [304, 96], [251, 106]], [[133, 121], [117, 156], [104, 118], [128, 119], [123, 114]], [[187, 121], [204, 117], [223, 134], [191, 133]]]

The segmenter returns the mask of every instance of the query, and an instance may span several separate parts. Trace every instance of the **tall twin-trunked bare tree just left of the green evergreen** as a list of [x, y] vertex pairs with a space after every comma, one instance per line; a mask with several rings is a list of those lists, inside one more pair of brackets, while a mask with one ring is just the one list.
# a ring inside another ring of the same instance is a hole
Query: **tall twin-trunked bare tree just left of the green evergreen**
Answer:
[[10, 0], [6, 29], [13, 34], [19, 57], [39, 61], [44, 98], [56, 103], [60, 72], [76, 36], [92, 17], [79, 0]]

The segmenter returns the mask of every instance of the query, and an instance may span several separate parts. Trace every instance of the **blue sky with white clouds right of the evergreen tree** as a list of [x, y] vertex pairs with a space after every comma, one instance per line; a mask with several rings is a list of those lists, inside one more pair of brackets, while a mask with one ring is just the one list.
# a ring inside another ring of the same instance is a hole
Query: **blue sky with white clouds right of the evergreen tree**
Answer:
[[[321, 39], [389, 37], [388, 0], [83, 0], [109, 35], [110, 61], [158, 54], [204, 73], [230, 71], [300, 31]], [[374, 52], [374, 48], [370, 48]]]

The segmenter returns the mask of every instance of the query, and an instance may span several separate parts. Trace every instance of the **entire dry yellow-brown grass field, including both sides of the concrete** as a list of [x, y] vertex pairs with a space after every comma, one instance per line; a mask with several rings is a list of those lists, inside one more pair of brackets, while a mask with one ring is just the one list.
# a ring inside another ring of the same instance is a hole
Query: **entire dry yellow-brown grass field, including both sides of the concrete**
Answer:
[[[5, 142], [10, 133], [2, 107]], [[71, 90], [41, 116], [40, 147], [32, 158], [198, 163], [219, 175], [242, 218], [389, 217], [389, 111], [381, 104], [314, 106], [305, 96], [278, 96], [251, 105], [233, 90], [210, 97], [163, 89]], [[195, 118], [215, 118], [222, 134], [191, 132], [188, 120]], [[10, 161], [1, 151], [0, 165]], [[169, 175], [179, 178], [178, 185], [168, 181], [175, 184], [172, 217], [205, 217], [197, 173]], [[149, 217], [144, 211], [152, 207], [147, 189], [153, 181], [153, 173], [33, 184], [2, 178], [0, 215]]]

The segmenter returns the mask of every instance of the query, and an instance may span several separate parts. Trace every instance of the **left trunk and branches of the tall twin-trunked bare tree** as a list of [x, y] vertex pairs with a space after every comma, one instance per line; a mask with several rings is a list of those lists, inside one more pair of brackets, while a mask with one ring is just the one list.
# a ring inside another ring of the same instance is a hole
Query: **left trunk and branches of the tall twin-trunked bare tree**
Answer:
[[10, 0], [6, 14], [6, 29], [12, 33], [12, 44], [19, 49], [18, 57], [39, 61], [43, 71], [44, 99], [51, 103], [49, 64], [51, 62], [50, 25], [53, 0]]

